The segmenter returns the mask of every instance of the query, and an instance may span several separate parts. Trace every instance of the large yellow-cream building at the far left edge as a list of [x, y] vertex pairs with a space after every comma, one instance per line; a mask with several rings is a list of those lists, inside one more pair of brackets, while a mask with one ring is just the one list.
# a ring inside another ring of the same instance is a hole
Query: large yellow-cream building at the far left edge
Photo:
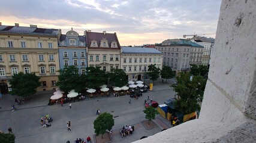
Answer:
[[59, 70], [58, 29], [4, 26], [0, 23], [0, 87], [1, 93], [10, 88], [14, 73], [35, 73], [41, 86], [37, 91], [56, 88]]

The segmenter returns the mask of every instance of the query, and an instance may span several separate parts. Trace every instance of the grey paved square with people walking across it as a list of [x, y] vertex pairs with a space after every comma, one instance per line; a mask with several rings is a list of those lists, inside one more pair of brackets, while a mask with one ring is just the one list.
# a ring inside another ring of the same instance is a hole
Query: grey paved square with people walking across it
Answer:
[[[144, 118], [144, 100], [147, 96], [159, 104], [164, 103], [167, 98], [173, 98], [174, 92], [170, 88], [174, 80], [167, 80], [162, 83], [161, 80], [153, 84], [153, 91], [143, 93], [138, 100], [130, 98], [128, 95], [122, 97], [102, 97], [79, 102], [72, 102], [72, 108], [68, 104], [61, 107], [60, 104], [47, 105], [53, 91], [38, 92], [25, 101], [25, 104], [16, 105], [14, 98], [16, 96], [3, 95], [0, 98], [0, 130], [7, 132], [8, 128], [13, 129], [16, 136], [16, 142], [67, 142], [74, 141], [76, 138], [87, 138], [91, 136], [92, 142], [94, 133], [94, 120], [97, 118], [96, 110], [99, 108], [101, 113], [108, 112], [115, 117], [115, 126], [113, 126], [113, 142], [132, 142], [137, 141], [142, 136], [150, 136], [160, 132], [162, 129], [170, 128], [170, 122], [160, 115], [156, 116], [153, 122], [158, 125], [157, 128], [146, 130], [140, 122]], [[147, 81], [146, 81], [147, 83]], [[131, 104], [128, 103], [131, 99]], [[11, 111], [11, 105], [16, 105], [17, 110]], [[45, 114], [53, 117], [52, 126], [42, 128], [40, 118]], [[71, 121], [72, 131], [66, 131], [66, 124]], [[134, 125], [135, 131], [132, 135], [121, 138], [119, 134], [122, 126]]]

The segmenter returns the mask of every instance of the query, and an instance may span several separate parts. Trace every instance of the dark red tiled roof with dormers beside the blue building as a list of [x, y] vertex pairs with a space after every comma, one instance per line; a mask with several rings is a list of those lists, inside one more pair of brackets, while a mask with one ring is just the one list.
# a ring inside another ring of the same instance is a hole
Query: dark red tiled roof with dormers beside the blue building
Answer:
[[98, 46], [100, 46], [102, 39], [107, 39], [109, 46], [111, 45], [111, 42], [115, 41], [118, 43], [118, 48], [121, 48], [116, 33], [106, 33], [104, 35], [104, 33], [86, 31], [86, 45], [88, 46], [88, 48], [91, 48], [91, 42], [94, 40], [97, 41]]

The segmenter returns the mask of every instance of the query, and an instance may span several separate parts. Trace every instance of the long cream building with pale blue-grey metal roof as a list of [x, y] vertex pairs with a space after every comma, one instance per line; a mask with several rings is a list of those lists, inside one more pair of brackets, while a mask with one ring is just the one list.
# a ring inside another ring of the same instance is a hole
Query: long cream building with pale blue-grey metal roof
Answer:
[[150, 64], [162, 69], [162, 52], [155, 48], [122, 47], [121, 68], [128, 80], [149, 79], [146, 72]]

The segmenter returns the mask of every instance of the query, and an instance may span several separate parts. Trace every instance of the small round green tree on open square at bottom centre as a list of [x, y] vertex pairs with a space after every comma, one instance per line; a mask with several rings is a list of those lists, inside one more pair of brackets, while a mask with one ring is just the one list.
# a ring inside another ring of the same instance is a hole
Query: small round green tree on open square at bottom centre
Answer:
[[96, 135], [101, 134], [101, 138], [103, 138], [103, 134], [106, 133], [106, 129], [111, 130], [115, 125], [113, 115], [110, 113], [100, 114], [96, 120], [94, 120], [94, 129]]

